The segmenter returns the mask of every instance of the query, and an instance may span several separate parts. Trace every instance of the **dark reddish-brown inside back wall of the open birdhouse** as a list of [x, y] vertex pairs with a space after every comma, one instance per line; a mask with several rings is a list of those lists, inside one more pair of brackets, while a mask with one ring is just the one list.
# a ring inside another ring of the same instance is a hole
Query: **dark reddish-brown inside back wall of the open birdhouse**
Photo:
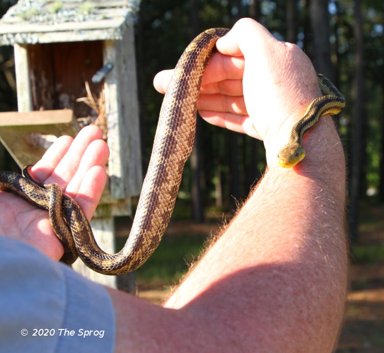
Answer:
[[85, 81], [93, 95], [102, 90], [101, 83], [91, 81], [103, 65], [101, 40], [28, 45], [28, 57], [33, 110], [69, 108], [76, 118], [92, 114], [76, 99], [87, 96]]

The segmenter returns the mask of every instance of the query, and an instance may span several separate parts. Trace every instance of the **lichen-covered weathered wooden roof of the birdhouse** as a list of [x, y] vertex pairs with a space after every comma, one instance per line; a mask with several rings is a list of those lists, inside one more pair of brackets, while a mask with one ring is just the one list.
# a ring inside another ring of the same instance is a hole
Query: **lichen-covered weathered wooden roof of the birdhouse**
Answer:
[[140, 0], [19, 0], [0, 19], [0, 45], [121, 39]]

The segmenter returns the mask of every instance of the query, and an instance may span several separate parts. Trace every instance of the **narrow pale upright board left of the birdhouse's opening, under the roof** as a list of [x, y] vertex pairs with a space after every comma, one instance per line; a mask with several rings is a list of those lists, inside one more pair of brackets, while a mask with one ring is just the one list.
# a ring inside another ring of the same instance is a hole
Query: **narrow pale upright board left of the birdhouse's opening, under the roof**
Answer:
[[14, 45], [17, 108], [19, 112], [32, 110], [31, 84], [29, 80], [28, 51], [25, 45]]

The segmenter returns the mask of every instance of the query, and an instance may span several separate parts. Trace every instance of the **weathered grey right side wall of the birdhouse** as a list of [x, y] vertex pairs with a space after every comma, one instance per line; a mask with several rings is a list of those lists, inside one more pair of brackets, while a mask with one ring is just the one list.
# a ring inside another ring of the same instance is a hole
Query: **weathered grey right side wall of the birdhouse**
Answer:
[[104, 42], [104, 62], [114, 64], [104, 81], [113, 198], [138, 195], [142, 185], [134, 50], [132, 26], [126, 28], [123, 40]]

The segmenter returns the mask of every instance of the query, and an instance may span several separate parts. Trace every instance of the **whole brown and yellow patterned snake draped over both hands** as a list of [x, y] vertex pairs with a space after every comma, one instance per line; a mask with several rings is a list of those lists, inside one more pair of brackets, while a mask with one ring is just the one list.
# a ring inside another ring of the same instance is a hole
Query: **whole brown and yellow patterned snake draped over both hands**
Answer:
[[[216, 41], [228, 31], [213, 28], [202, 32], [190, 42], [176, 64], [160, 109], [132, 228], [119, 252], [108, 254], [100, 249], [87, 217], [69, 195], [61, 193], [60, 186], [36, 182], [29, 173], [30, 167], [24, 168], [23, 175], [0, 172], [1, 191], [12, 192], [49, 211], [53, 230], [65, 248], [61, 260], [70, 264], [80, 257], [96, 272], [121, 275], [139, 268], [155, 251], [172, 215], [183, 168], [194, 146], [201, 79], [216, 52]], [[292, 129], [292, 146], [302, 147], [303, 135], [317, 119], [325, 112], [337, 111], [342, 105], [341, 94], [329, 80], [321, 77], [319, 83], [324, 86], [322, 90], [326, 95], [316, 99]], [[286, 156], [286, 150], [288, 146], [279, 153], [279, 159], [289, 161], [284, 162], [284, 166], [293, 160]], [[297, 148], [291, 154], [295, 156], [296, 152]]]

